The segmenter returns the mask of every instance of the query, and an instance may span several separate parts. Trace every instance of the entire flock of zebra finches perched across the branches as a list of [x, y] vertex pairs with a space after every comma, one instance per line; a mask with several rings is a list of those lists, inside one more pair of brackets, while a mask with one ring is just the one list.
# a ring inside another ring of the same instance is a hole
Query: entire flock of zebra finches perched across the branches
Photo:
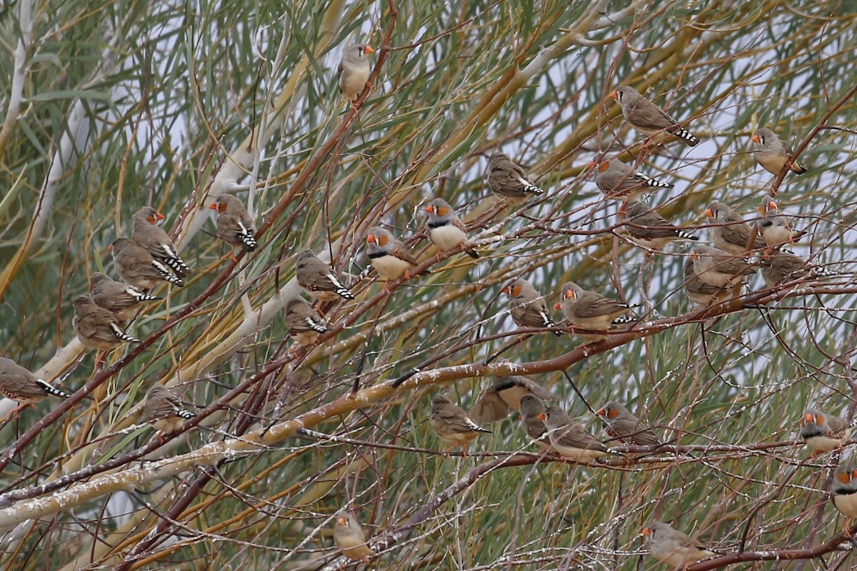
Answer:
[[[371, 53], [373, 50], [368, 45], [352, 45], [345, 49], [339, 66], [339, 86], [352, 104], [369, 86], [367, 56]], [[698, 144], [696, 136], [631, 87], [621, 86], [610, 96], [618, 101], [632, 128], [648, 136], [667, 134], [689, 146]], [[799, 175], [806, 172], [794, 161], [792, 150], [770, 129], [759, 128], [752, 136], [752, 142], [755, 146], [753, 156], [770, 173], [779, 175], [787, 169]], [[590, 167], [596, 170], [595, 183], [604, 196], [621, 202], [619, 215], [626, 222], [629, 239], [646, 248], [647, 256], [670, 241], [699, 241], [697, 236], [669, 223], [639, 201], [652, 189], [672, 187], [672, 184], [639, 173], [618, 158], [602, 157], [593, 161]], [[543, 193], [503, 152], [494, 152], [488, 159], [487, 179], [488, 187], [507, 204], [523, 204], [530, 196]], [[217, 211], [219, 238], [244, 252], [255, 250], [255, 222], [239, 199], [231, 194], [222, 194], [210, 208]], [[428, 214], [428, 237], [436, 247], [443, 251], [458, 250], [474, 259], [479, 257], [467, 241], [464, 224], [446, 200], [432, 199], [425, 211]], [[822, 268], [782, 249], [805, 232], [794, 229], [792, 221], [779, 211], [771, 196], [762, 200], [758, 212], [760, 217], [751, 227], [738, 212], [720, 202], [712, 202], [705, 211], [705, 215], [716, 223], [710, 228], [714, 247], [694, 247], [685, 266], [684, 288], [694, 303], [707, 306], [729, 299], [740, 290], [746, 276], [758, 267], [762, 269], [768, 287], [825, 275]], [[114, 269], [122, 281], [94, 273], [89, 295], [75, 298], [74, 327], [84, 347], [105, 353], [122, 343], [138, 342], [125, 332], [123, 323], [135, 317], [141, 304], [161, 299], [150, 293], [159, 282], [183, 285], [190, 268], [179, 257], [170, 236], [159, 227], [163, 219], [162, 214], [149, 206], [138, 211], [134, 216], [131, 238], [117, 238], [110, 247]], [[411, 279], [411, 271], [418, 265], [405, 245], [380, 227], [369, 229], [366, 253], [375, 271], [387, 281], [401, 277]], [[750, 259], [748, 255], [752, 253], [758, 254], [758, 258]], [[310, 249], [297, 255], [295, 278], [315, 300], [355, 299], [331, 266]], [[384, 287], [387, 288], [387, 283]], [[565, 318], [560, 327], [551, 318], [542, 295], [524, 278], [519, 277], [502, 291], [511, 298], [511, 315], [518, 326], [543, 328], [557, 336], [572, 332], [586, 339], [598, 340], [636, 319], [632, 315], [632, 307], [569, 282], [562, 286], [560, 301], [554, 306]], [[299, 295], [285, 305], [285, 324], [297, 344], [315, 343], [327, 331], [320, 312]], [[99, 355], [99, 361], [104, 353]], [[69, 396], [6, 358], [0, 359], [0, 392], [21, 406], [48, 395]], [[470, 413], [446, 396], [435, 396], [430, 424], [444, 443], [461, 447], [465, 452], [467, 445], [480, 432], [489, 432], [482, 428], [482, 424], [504, 419], [514, 409], [520, 412], [527, 436], [546, 452], [581, 462], [619, 453], [590, 435], [562, 408], [542, 404], [542, 401], [553, 398], [547, 390], [529, 379], [498, 378]], [[608, 402], [597, 411], [597, 415], [615, 440], [649, 446], [652, 451], [667, 445], [618, 402]], [[165, 434], [180, 431], [183, 421], [193, 416], [183, 407], [183, 401], [164, 385], [155, 384], [147, 391], [143, 419], [153, 423], [159, 431]], [[847, 421], [808, 409], [802, 419], [800, 435], [816, 455], [842, 448], [848, 442], [850, 431]], [[850, 457], [843, 459], [836, 468], [833, 502], [848, 518], [857, 517], [857, 466]], [[343, 511], [335, 520], [335, 544], [345, 556], [353, 559], [375, 556], [353, 515]], [[704, 549], [693, 538], [665, 523], [651, 523], [644, 527], [643, 534], [647, 537], [651, 555], [676, 568], [715, 555], [715, 552]]]

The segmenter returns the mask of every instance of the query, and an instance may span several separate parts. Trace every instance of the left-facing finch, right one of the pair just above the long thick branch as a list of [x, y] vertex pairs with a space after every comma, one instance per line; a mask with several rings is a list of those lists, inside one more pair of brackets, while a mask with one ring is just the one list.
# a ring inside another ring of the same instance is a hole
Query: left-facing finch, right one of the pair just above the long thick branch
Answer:
[[[581, 288], [577, 283], [564, 283], [560, 294], [560, 302], [554, 306], [554, 309], [562, 310], [566, 321], [572, 327], [592, 331], [608, 331], [614, 329], [614, 325], [633, 321], [633, 318], [628, 317], [631, 306]], [[578, 333], [577, 331], [575, 334], [593, 341], [607, 338], [601, 334]]]

